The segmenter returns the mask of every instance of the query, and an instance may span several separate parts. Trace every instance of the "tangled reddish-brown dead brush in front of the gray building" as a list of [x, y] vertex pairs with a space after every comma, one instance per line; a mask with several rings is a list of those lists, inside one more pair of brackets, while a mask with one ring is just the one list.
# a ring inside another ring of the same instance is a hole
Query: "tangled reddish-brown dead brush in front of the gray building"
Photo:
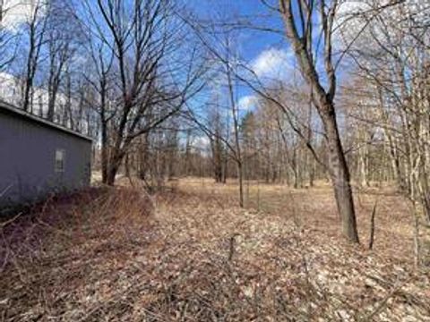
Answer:
[[152, 212], [140, 191], [91, 188], [53, 196], [0, 226], [0, 311], [57, 306], [61, 290], [85, 287], [92, 269], [132, 256]]

